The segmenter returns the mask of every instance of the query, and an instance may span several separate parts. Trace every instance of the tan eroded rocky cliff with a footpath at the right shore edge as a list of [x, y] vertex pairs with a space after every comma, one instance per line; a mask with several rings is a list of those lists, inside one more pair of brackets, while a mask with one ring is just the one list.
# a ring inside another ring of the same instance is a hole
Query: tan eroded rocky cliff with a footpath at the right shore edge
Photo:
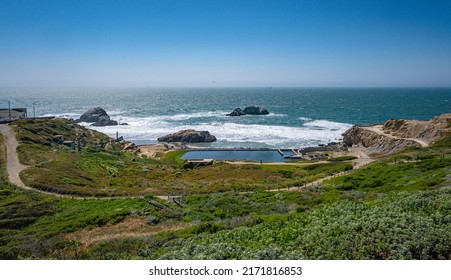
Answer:
[[[362, 146], [368, 154], [393, 154], [409, 147], [432, 144], [451, 133], [451, 114], [430, 121], [392, 119], [382, 126], [354, 126], [343, 134], [343, 145]], [[423, 144], [424, 145], [424, 144]]]

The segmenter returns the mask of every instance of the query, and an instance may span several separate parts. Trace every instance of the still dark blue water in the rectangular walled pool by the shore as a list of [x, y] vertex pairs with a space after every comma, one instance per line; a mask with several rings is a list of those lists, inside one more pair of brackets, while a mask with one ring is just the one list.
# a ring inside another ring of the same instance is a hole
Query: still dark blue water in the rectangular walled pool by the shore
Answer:
[[214, 160], [251, 160], [258, 162], [291, 161], [284, 156], [294, 155], [292, 151], [283, 151], [283, 156], [277, 150], [201, 150], [189, 151], [182, 159], [214, 159]]

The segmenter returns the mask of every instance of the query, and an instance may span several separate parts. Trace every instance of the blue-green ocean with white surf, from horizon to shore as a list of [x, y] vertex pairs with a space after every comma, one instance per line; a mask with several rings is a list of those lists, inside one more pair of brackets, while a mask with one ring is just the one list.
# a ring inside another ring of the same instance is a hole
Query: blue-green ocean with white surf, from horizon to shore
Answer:
[[[355, 124], [390, 118], [427, 120], [451, 112], [450, 88], [71, 88], [0, 89], [0, 107], [27, 107], [33, 116], [78, 118], [104, 108], [124, 126], [93, 129], [137, 144], [182, 129], [208, 130], [206, 147], [300, 148], [339, 141]], [[261, 105], [265, 116], [227, 117]], [[88, 124], [85, 124], [88, 125]]]

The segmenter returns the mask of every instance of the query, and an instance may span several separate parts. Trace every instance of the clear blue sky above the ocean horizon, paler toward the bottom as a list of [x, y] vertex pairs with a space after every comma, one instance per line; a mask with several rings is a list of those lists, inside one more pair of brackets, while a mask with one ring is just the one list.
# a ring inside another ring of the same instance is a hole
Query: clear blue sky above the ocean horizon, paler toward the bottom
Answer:
[[0, 0], [0, 86], [451, 86], [451, 1]]

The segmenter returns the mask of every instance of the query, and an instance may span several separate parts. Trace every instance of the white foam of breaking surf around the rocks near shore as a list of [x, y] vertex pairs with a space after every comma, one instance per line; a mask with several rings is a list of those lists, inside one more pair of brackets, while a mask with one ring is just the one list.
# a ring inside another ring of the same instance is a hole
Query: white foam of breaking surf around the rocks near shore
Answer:
[[[283, 126], [265, 124], [243, 124], [228, 122], [218, 112], [200, 112], [193, 114], [177, 114], [173, 116], [152, 117], [117, 117], [120, 123], [128, 125], [92, 127], [110, 136], [116, 131], [125, 139], [139, 142], [156, 142], [158, 137], [183, 129], [207, 130], [215, 135], [217, 147], [280, 147], [296, 148], [337, 141], [351, 124], [315, 120], [302, 126]], [[219, 116], [219, 117], [218, 117]], [[184, 121], [193, 118], [215, 117], [212, 122], [189, 124]]]

